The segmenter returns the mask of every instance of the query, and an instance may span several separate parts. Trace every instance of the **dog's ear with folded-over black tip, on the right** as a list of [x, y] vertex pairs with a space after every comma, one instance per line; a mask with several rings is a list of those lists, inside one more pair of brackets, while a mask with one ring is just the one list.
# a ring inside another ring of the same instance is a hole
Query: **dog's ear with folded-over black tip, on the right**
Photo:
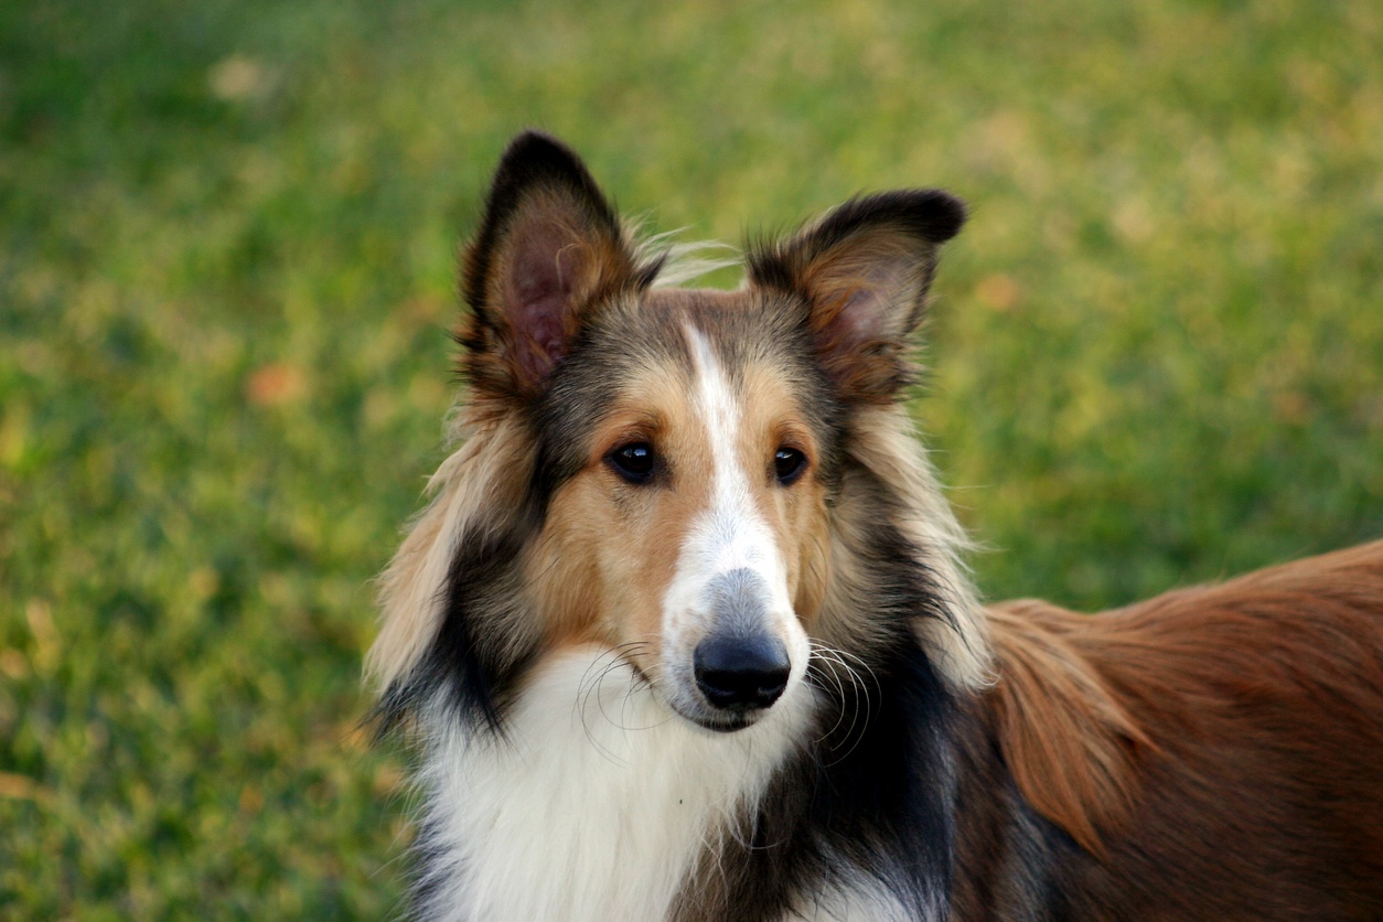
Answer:
[[820, 359], [859, 399], [907, 380], [906, 340], [927, 305], [942, 243], [965, 223], [960, 199], [902, 189], [852, 199], [797, 235], [750, 254], [750, 283], [795, 294]]

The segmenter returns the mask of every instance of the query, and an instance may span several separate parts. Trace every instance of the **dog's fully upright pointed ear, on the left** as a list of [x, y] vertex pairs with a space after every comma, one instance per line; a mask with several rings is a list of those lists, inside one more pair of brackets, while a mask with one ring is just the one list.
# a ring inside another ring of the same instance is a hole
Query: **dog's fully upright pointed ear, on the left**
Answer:
[[462, 270], [472, 315], [459, 340], [472, 386], [509, 398], [541, 394], [588, 310], [647, 285], [656, 271], [635, 265], [581, 159], [545, 134], [520, 134], [499, 162]]

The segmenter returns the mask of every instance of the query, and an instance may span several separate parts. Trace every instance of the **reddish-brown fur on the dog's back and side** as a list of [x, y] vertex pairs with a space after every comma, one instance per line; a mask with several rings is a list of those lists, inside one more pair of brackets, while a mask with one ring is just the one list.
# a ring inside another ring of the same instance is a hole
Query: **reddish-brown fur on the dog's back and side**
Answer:
[[1022, 860], [978, 831], [1015, 805], [972, 806], [956, 918], [1029, 918], [1039, 887], [1057, 918], [1383, 912], [1383, 542], [1099, 615], [1005, 603], [990, 629], [976, 733], [1083, 847], [1029, 861], [1005, 910], [985, 876]]

